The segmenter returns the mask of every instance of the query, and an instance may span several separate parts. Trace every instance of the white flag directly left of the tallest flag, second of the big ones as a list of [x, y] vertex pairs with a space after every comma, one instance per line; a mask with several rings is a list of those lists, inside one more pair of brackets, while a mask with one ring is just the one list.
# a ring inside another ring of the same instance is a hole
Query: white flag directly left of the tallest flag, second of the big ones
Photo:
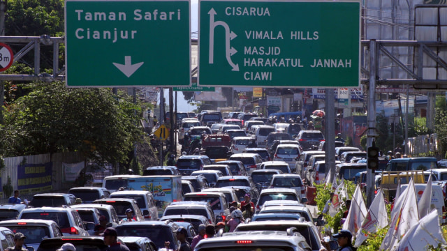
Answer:
[[375, 233], [378, 228], [388, 226], [388, 214], [386, 213], [385, 199], [382, 190], [377, 192], [376, 197], [369, 207], [362, 227], [357, 232], [356, 244], [358, 247], [368, 238], [369, 234]]

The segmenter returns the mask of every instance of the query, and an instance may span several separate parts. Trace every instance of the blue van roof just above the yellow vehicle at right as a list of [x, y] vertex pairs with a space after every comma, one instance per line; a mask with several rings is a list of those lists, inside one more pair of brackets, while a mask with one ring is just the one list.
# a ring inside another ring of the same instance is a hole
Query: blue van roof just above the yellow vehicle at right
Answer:
[[411, 171], [437, 169], [436, 158], [395, 158], [388, 161], [386, 171]]

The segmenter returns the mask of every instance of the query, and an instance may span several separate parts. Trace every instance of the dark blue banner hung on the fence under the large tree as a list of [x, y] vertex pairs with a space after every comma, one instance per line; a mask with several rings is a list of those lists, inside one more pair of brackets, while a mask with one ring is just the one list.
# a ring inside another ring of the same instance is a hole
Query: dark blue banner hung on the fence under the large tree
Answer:
[[38, 192], [51, 187], [52, 162], [17, 166], [17, 189]]

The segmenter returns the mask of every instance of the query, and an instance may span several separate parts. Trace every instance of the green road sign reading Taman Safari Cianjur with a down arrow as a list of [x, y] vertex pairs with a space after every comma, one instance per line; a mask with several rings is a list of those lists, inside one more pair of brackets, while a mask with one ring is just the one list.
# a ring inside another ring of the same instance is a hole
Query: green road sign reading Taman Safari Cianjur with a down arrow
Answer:
[[66, 0], [66, 85], [189, 86], [188, 0]]

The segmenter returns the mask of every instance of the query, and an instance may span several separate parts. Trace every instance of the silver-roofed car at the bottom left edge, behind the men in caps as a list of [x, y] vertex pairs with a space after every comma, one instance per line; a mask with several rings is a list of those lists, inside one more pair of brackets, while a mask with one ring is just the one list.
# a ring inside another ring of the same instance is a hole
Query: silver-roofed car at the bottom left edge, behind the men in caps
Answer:
[[14, 233], [20, 232], [27, 236], [24, 244], [37, 250], [41, 241], [45, 238], [61, 237], [62, 232], [56, 222], [52, 220], [3, 220], [0, 229], [6, 227]]

